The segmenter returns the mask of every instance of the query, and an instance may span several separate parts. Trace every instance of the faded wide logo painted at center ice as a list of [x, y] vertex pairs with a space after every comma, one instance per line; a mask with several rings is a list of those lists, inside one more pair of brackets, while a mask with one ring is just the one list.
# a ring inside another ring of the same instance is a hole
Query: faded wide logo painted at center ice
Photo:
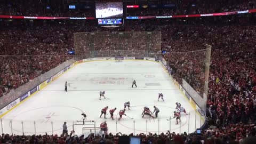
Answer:
[[90, 81], [96, 85], [126, 85], [131, 84], [133, 79], [130, 77], [93, 77]]

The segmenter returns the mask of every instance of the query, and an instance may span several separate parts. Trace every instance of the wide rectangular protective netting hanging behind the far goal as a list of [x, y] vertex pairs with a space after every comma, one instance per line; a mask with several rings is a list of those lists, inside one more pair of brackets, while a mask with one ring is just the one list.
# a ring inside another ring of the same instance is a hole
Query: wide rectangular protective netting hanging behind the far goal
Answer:
[[161, 51], [161, 32], [93, 32], [75, 33], [76, 55], [99, 57], [134, 56]]

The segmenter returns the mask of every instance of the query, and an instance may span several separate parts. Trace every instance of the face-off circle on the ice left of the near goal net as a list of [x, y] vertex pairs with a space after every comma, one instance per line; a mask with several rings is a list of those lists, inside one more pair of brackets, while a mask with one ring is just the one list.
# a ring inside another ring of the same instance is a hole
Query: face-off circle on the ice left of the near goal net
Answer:
[[[57, 109], [57, 110], [55, 110]], [[62, 111], [59, 111], [58, 109], [62, 109]], [[54, 111], [59, 111], [58, 113], [55, 113]], [[67, 111], [70, 111], [70, 114], [67, 113]], [[39, 129], [40, 131], [36, 131], [37, 133], [45, 133], [45, 132], [52, 132], [52, 125], [53, 125], [53, 131], [60, 131], [60, 125], [63, 124], [63, 122], [67, 122], [68, 127], [72, 127], [73, 121], [71, 119], [80, 119], [81, 113], [83, 113], [83, 110], [71, 107], [71, 106], [48, 106], [48, 107], [39, 107], [34, 109], [29, 109], [26, 111], [23, 111], [22, 113], [19, 113], [18, 115], [15, 115], [12, 118], [12, 122], [9, 122], [10, 127], [17, 127], [17, 129], [13, 129], [13, 131], [22, 132], [19, 127], [24, 126], [24, 133], [35, 133], [34, 129], [36, 127], [41, 127]], [[70, 120], [63, 120], [63, 117], [66, 115], [73, 115], [75, 114], [76, 117], [72, 117]], [[31, 115], [33, 117], [31, 118]], [[30, 116], [30, 117], [29, 117]], [[29, 120], [27, 120], [28, 118]], [[41, 126], [43, 125], [43, 126]], [[56, 129], [58, 127], [58, 129]], [[55, 128], [55, 129], [54, 129]], [[71, 129], [71, 128], [69, 128]]]

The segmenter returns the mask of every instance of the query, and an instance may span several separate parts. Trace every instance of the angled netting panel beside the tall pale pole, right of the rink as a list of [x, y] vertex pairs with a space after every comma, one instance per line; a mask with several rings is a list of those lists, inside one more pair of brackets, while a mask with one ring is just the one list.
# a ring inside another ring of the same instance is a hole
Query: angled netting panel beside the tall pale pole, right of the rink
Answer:
[[170, 52], [163, 55], [167, 69], [175, 81], [186, 90], [186, 96], [205, 112], [209, 82], [211, 47], [189, 52]]

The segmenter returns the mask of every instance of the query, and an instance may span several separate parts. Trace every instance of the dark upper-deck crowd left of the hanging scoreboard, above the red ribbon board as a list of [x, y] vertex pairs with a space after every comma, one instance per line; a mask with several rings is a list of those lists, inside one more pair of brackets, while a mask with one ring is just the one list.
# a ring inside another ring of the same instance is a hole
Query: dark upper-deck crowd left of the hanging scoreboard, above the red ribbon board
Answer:
[[0, 3], [0, 14], [34, 17], [94, 17], [92, 9], [69, 9], [58, 1], [5, 1]]

